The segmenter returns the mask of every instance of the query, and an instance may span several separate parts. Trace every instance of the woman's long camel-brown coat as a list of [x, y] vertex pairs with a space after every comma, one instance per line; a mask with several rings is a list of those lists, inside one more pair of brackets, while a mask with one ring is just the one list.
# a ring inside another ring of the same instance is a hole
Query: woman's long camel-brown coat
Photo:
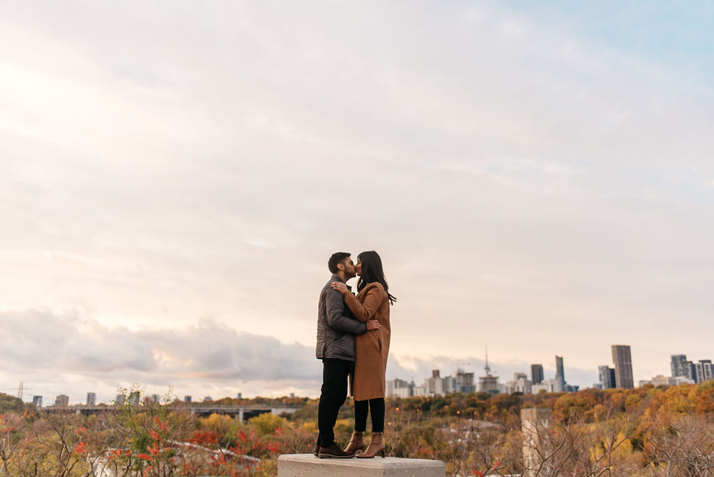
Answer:
[[357, 293], [345, 293], [345, 303], [363, 323], [375, 319], [378, 330], [355, 336], [355, 371], [352, 376], [352, 397], [355, 401], [383, 398], [386, 394], [384, 374], [389, 353], [389, 299], [381, 283], [368, 283]]

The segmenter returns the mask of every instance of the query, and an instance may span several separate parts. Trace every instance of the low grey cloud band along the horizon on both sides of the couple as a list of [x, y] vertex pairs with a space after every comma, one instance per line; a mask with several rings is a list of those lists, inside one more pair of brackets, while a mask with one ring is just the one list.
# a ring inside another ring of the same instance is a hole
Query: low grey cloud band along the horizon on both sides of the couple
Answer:
[[[180, 396], [213, 398], [233, 396], [236, 389], [245, 396], [286, 390], [319, 394], [321, 364], [313, 348], [244, 333], [210, 319], [183, 328], [136, 331], [102, 326], [76, 312], [2, 311], [0, 320], [6, 323], [0, 366], [13, 376], [24, 376], [19, 379], [29, 378], [36, 393], [44, 390], [46, 402], [59, 393], [81, 401], [78, 396], [88, 388], [99, 390], [102, 401], [111, 401], [116, 388], [131, 383], [160, 393], [172, 386]], [[480, 376], [483, 364], [473, 356], [390, 356], [386, 378], [421, 383], [433, 369], [448, 376], [457, 368]], [[491, 368], [504, 383], [513, 372], [530, 373], [530, 364], [518, 360], [491, 362]], [[545, 368], [548, 374], [552, 366]], [[593, 371], [577, 368], [566, 368], [566, 377], [571, 383], [596, 381]]]

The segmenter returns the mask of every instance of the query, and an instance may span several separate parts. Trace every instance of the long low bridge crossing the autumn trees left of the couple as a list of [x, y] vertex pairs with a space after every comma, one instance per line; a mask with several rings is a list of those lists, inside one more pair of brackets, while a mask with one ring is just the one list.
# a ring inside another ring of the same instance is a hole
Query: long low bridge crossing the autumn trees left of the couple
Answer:
[[[138, 406], [138, 405], [137, 405]], [[198, 417], [208, 417], [211, 414], [221, 414], [223, 416], [238, 417], [241, 421], [245, 422], [248, 419], [260, 416], [265, 413], [272, 413], [276, 416], [281, 414], [292, 414], [301, 406], [232, 406], [232, 405], [221, 405], [221, 404], [186, 404], [178, 403], [176, 405], [170, 405], [176, 408], [176, 411], [183, 411], [191, 413], [191, 416]], [[46, 406], [40, 408], [42, 412], [45, 413], [75, 413], [83, 414], [84, 416], [89, 416], [91, 414], [101, 414], [101, 413], [116, 413], [121, 410], [124, 406]]]

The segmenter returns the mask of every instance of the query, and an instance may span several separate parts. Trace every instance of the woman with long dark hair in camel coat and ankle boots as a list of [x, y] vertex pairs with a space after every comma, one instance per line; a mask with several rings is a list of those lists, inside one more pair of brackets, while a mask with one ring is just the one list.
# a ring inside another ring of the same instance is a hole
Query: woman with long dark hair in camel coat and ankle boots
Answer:
[[[345, 303], [354, 316], [362, 322], [376, 319], [381, 324], [377, 330], [355, 336], [355, 371], [352, 376], [352, 396], [355, 401], [355, 430], [346, 452], [362, 451], [357, 457], [371, 458], [381, 453], [384, 457], [384, 373], [389, 353], [389, 306], [396, 298], [389, 294], [382, 271], [382, 259], [376, 251], [362, 252], [357, 256], [357, 296], [348, 293], [344, 283], [333, 281], [332, 288], [345, 296]], [[362, 433], [367, 427], [367, 413], [372, 416], [372, 440], [365, 450]]]

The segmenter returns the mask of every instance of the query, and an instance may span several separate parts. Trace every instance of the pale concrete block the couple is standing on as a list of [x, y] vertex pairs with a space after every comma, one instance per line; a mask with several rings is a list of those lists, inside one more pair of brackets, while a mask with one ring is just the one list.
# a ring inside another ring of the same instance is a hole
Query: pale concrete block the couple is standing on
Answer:
[[444, 477], [442, 461], [419, 458], [318, 458], [312, 454], [278, 457], [278, 477]]

